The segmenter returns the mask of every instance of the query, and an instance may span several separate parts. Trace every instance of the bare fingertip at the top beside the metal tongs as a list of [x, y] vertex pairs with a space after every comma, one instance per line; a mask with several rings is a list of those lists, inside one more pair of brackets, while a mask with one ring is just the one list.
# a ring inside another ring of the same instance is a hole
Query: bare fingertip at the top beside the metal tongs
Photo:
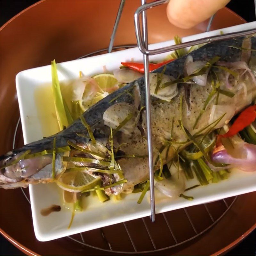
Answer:
[[230, 0], [170, 0], [168, 20], [179, 28], [192, 28], [207, 20]]

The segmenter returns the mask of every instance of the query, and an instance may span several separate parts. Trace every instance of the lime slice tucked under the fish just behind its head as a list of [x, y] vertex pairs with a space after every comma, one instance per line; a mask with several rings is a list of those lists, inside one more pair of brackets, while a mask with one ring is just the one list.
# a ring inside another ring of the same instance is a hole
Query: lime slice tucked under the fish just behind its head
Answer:
[[100, 183], [100, 177], [88, 174], [85, 171], [66, 171], [57, 180], [57, 185], [69, 192], [81, 192], [94, 188]]

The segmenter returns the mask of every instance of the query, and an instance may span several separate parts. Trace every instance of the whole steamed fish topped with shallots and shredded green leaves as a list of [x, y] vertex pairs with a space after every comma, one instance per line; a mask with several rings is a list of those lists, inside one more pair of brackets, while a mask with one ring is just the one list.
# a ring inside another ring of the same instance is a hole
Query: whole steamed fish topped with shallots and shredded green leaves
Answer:
[[[250, 48], [244, 50], [244, 45]], [[195, 76], [198, 69], [199, 73]], [[234, 77], [234, 73], [238, 77]], [[159, 156], [163, 164], [167, 163], [176, 156], [176, 150], [189, 144], [181, 122], [191, 134], [195, 134], [210, 123], [212, 109], [216, 105], [220, 108], [223, 106], [223, 109], [231, 106], [233, 110], [229, 111], [228, 116], [224, 115], [220, 122], [224, 125], [251, 104], [256, 93], [255, 75], [254, 36], [206, 44], [170, 62], [165, 68], [150, 73], [155, 169], [160, 166]], [[188, 79], [182, 79], [184, 77]], [[136, 184], [149, 176], [144, 106], [145, 84], [142, 77], [100, 100], [65, 130], [1, 156], [0, 187], [8, 189], [53, 182], [67, 168], [78, 165], [87, 166], [90, 173], [94, 171], [101, 177], [104, 186], [127, 180], [106, 189], [105, 193], [117, 195], [131, 192]], [[212, 121], [222, 114], [215, 116]], [[113, 128], [112, 144], [109, 127]], [[187, 143], [180, 143], [184, 141]], [[115, 152], [115, 164], [122, 170], [123, 177], [117, 173], [109, 176], [96, 171], [102, 169], [100, 161], [113, 160], [111, 150]], [[38, 152], [41, 153], [36, 154]], [[98, 159], [99, 162], [88, 163], [74, 157]]]

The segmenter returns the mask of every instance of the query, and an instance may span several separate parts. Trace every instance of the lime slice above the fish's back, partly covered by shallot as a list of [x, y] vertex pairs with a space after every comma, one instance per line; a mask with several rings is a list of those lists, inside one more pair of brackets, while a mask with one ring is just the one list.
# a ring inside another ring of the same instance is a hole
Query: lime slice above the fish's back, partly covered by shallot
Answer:
[[90, 87], [87, 87], [89, 90], [85, 87], [83, 98], [79, 101], [80, 107], [83, 111], [90, 108], [92, 105], [105, 98], [109, 93], [114, 92], [119, 88], [118, 81], [112, 74], [102, 73], [92, 76], [92, 78], [99, 85], [99, 92], [92, 94], [92, 92], [89, 91]]

